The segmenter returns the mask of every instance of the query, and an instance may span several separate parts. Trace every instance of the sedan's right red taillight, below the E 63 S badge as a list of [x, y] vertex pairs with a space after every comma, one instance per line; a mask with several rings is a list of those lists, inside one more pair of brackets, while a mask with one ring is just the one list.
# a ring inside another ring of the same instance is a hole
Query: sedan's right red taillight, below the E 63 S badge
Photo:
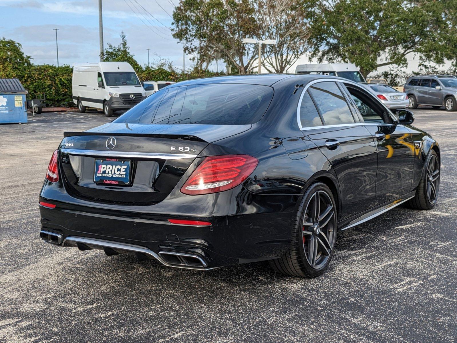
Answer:
[[181, 192], [198, 195], [229, 190], [247, 179], [258, 162], [248, 155], [207, 157], [189, 176]]

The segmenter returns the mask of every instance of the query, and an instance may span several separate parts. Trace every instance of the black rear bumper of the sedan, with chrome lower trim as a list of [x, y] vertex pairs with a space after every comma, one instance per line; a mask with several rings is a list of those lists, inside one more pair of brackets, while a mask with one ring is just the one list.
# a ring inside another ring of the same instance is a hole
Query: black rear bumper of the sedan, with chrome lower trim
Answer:
[[[245, 192], [247, 190], [243, 190]], [[107, 211], [40, 197], [40, 201], [57, 205], [53, 209], [40, 206], [41, 229], [48, 232], [40, 236], [60, 247], [101, 249], [107, 255], [133, 253], [140, 259], [157, 259], [167, 266], [202, 270], [282, 256], [290, 241], [290, 218], [296, 199], [283, 195], [251, 197], [252, 207], [231, 216], [177, 214], [171, 208], [170, 214]], [[259, 206], [259, 201], [268, 202], [269, 207], [265, 207], [266, 203]], [[167, 220], [174, 218], [207, 221], [212, 226], [176, 225]], [[60, 237], [50, 239], [49, 233]], [[76, 242], [78, 239], [90, 240], [90, 243]], [[113, 248], [112, 244], [120, 246]], [[186, 256], [181, 258], [179, 254], [191, 256], [191, 265], [183, 263]], [[198, 259], [202, 263], [197, 263]]]

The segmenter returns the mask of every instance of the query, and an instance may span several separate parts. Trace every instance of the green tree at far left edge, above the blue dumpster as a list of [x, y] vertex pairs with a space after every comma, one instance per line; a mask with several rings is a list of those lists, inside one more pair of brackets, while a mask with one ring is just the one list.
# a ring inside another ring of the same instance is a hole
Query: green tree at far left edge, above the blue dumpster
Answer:
[[29, 67], [30, 56], [22, 52], [22, 45], [11, 39], [0, 39], [0, 78], [21, 78], [24, 69]]

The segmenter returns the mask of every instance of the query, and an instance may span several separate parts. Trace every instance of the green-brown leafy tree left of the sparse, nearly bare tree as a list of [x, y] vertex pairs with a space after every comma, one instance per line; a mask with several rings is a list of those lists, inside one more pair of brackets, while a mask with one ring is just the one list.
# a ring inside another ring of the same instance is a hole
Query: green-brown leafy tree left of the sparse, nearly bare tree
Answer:
[[182, 0], [173, 12], [173, 37], [196, 56], [197, 69], [220, 56], [246, 74], [256, 49], [243, 38], [259, 38], [261, 32], [255, 10], [250, 0]]

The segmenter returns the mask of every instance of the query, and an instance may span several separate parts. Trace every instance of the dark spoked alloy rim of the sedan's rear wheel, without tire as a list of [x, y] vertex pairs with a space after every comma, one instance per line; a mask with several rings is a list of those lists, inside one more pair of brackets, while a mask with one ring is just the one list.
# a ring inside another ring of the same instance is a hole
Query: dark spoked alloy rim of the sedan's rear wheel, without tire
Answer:
[[325, 266], [335, 241], [336, 213], [330, 196], [318, 190], [308, 201], [303, 216], [303, 249], [314, 269]]

